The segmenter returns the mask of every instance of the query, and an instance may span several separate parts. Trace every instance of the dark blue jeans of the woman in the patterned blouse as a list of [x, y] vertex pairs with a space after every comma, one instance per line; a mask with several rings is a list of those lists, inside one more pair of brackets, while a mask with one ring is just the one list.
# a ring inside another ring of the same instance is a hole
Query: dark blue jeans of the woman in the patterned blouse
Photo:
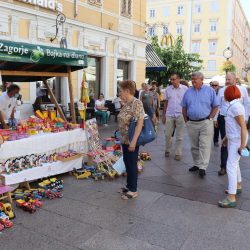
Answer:
[[138, 177], [137, 161], [139, 147], [136, 147], [134, 152], [128, 151], [128, 148], [129, 145], [122, 144], [123, 161], [127, 172], [127, 189], [131, 192], [136, 192]]

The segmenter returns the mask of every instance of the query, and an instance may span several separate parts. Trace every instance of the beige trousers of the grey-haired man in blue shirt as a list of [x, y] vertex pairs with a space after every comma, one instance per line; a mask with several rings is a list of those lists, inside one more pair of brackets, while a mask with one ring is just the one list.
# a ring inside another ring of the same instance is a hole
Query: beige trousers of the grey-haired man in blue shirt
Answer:
[[206, 170], [210, 160], [213, 121], [187, 122], [194, 166]]

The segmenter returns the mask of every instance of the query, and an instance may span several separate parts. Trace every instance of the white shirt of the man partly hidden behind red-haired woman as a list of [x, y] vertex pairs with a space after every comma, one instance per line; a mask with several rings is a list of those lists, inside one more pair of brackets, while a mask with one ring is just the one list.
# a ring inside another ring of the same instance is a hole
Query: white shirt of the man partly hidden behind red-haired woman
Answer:
[[[241, 104], [244, 106], [244, 109], [245, 109], [245, 120], [248, 121], [248, 117], [250, 115], [250, 98], [248, 96], [247, 89], [244, 86], [239, 86], [239, 85], [236, 85], [236, 86], [238, 87], [241, 93], [241, 98], [239, 99], [239, 101], [241, 102]], [[226, 87], [227, 86], [224, 86], [223, 88], [221, 88], [218, 93], [218, 100], [219, 100], [219, 113], [218, 114], [223, 115], [223, 116], [226, 116], [227, 109], [229, 107], [229, 102], [226, 102], [224, 98]]]

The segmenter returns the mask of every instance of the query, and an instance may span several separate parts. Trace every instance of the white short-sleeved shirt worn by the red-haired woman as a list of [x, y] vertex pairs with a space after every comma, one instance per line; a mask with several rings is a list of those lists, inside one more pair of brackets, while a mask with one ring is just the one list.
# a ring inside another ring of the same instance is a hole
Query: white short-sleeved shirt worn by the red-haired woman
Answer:
[[241, 138], [241, 128], [235, 120], [235, 117], [240, 115], [245, 119], [245, 109], [240, 99], [229, 102], [225, 116], [226, 135], [228, 139]]

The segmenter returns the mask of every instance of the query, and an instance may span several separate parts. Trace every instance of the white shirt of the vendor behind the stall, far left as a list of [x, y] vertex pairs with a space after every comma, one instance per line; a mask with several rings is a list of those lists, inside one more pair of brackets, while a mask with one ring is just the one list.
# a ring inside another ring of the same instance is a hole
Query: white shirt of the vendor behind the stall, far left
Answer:
[[7, 92], [3, 92], [3, 94], [0, 96], [0, 111], [3, 115], [5, 122], [8, 121], [8, 119], [11, 116], [11, 112], [15, 107], [16, 107], [16, 98], [15, 97], [10, 98]]

